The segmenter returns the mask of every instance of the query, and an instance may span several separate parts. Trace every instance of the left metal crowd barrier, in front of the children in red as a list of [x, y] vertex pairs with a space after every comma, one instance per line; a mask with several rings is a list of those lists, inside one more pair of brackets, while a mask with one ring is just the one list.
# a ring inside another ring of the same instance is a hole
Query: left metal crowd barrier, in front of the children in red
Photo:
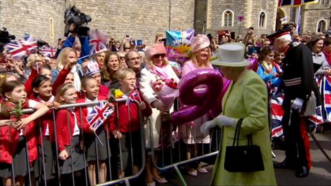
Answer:
[[[126, 102], [126, 101], [127, 101], [126, 99], [117, 99], [115, 102], [116, 103], [123, 103], [123, 102]], [[83, 117], [83, 114], [82, 114], [82, 108], [83, 107], [92, 107], [92, 106], [97, 105], [101, 102], [104, 102], [104, 101], [94, 101], [94, 102], [88, 102], [88, 103], [74, 103], [74, 104], [61, 105], [57, 108], [57, 110], [66, 109], [67, 113], [68, 113], [70, 108], [79, 107], [79, 114], [77, 114], [77, 118], [78, 117], [82, 118]], [[138, 104], [138, 106], [139, 106], [138, 101], [133, 100], [133, 102], [135, 104]], [[44, 147], [44, 141], [42, 139], [42, 136], [43, 136], [42, 135], [42, 132], [43, 132], [42, 121], [40, 119], [39, 119], [39, 121], [37, 121], [37, 120], [35, 121], [35, 123], [36, 123], [35, 125], [37, 125], [37, 123], [39, 124], [37, 126], [38, 127], [37, 130], [40, 133], [40, 136], [39, 136], [40, 138], [38, 138], [38, 141], [40, 143], [38, 143], [38, 145], [40, 145], [39, 153], [41, 154], [41, 156], [40, 156], [40, 158], [38, 158], [38, 161], [39, 161], [38, 163], [40, 163], [40, 161], [41, 161], [41, 164], [39, 164], [39, 165], [42, 169], [40, 171], [41, 174], [42, 174], [41, 175], [42, 183], [39, 183], [39, 184], [43, 184], [43, 185], [54, 185], [54, 184], [55, 185], [61, 185], [61, 178], [63, 177], [63, 174], [61, 174], [61, 166], [60, 166], [60, 160], [59, 160], [59, 148], [58, 148], [59, 144], [58, 144], [58, 138], [57, 138], [58, 131], [57, 131], [57, 127], [56, 127], [57, 123], [56, 123], [56, 116], [55, 116], [55, 112], [57, 110], [54, 110], [54, 108], [53, 108], [52, 114], [51, 114], [52, 121], [54, 122], [54, 148], [53, 148], [53, 150], [54, 150], [54, 164], [55, 164], [55, 172], [52, 172], [52, 173], [56, 177], [52, 181], [56, 182], [56, 183], [48, 183], [48, 181], [47, 181], [48, 178], [46, 176], [47, 167], [46, 167], [46, 159], [45, 159], [46, 158], [46, 156], [45, 156], [45, 147]], [[32, 113], [32, 112], [34, 112], [33, 109], [23, 110], [24, 114], [29, 114], [29, 113]], [[119, 121], [119, 107], [114, 107], [114, 112], [117, 113], [116, 114], [117, 118], [115, 118], [115, 120]], [[71, 134], [69, 114], [67, 114], [66, 119], [67, 119], [67, 123], [68, 123], [69, 134]], [[130, 107], [129, 106], [128, 106], [128, 120], [129, 120], [129, 123], [131, 123]], [[82, 121], [82, 119], [80, 119], [80, 121]], [[142, 174], [143, 169], [145, 168], [145, 165], [146, 165], [146, 159], [145, 159], [145, 145], [144, 145], [145, 137], [144, 137], [144, 133], [143, 133], [144, 122], [143, 122], [143, 115], [141, 114], [140, 109], [139, 109], [139, 123], [140, 123], [140, 136], [141, 136], [141, 138], [139, 138], [139, 139], [132, 139], [131, 127], [129, 125], [129, 130], [130, 130], [130, 132], [129, 132], [129, 135], [130, 135], [130, 142], [129, 142], [130, 143], [130, 147], [129, 147], [130, 148], [130, 160], [123, 160], [122, 159], [122, 154], [121, 154], [122, 153], [121, 149], [123, 148], [123, 147], [121, 147], [121, 140], [122, 139], [119, 138], [118, 140], [115, 140], [115, 142], [114, 142], [114, 138], [112, 138], [112, 137], [110, 139], [108, 139], [108, 136], [112, 136], [112, 134], [110, 134], [111, 132], [108, 131], [108, 127], [106, 127], [106, 133], [107, 133], [107, 135], [106, 135], [106, 144], [103, 144], [103, 145], [106, 145], [107, 154], [108, 155], [111, 154], [111, 156], [116, 156], [116, 157], [119, 155], [119, 160], [117, 158], [115, 158], [115, 160], [117, 160], [117, 162], [112, 161], [110, 159], [110, 156], [108, 156], [108, 158], [107, 158], [107, 164], [108, 164], [107, 165], [107, 168], [108, 168], [107, 177], [108, 178], [106, 179], [107, 180], [106, 183], [100, 183], [100, 175], [99, 175], [99, 170], [100, 170], [99, 162], [100, 162], [100, 160], [99, 160], [99, 157], [98, 157], [99, 152], [98, 152], [98, 148], [97, 148], [97, 143], [101, 143], [101, 142], [96, 139], [96, 141], [95, 141], [95, 144], [96, 144], [95, 145], [95, 153], [96, 153], [96, 158], [97, 158], [97, 161], [96, 161], [97, 162], [96, 163], [96, 165], [97, 165], [96, 166], [97, 167], [97, 169], [96, 169], [97, 179], [96, 180], [97, 180], [97, 183], [99, 183], [99, 185], [113, 185], [113, 184], [121, 183], [121, 182], [125, 182], [126, 185], [130, 185], [129, 180], [131, 180], [133, 178], [137, 178]], [[80, 125], [80, 127], [82, 127], [82, 125], [83, 125], [82, 122], [77, 123], [77, 124]], [[119, 123], [118, 123], [118, 125], [116, 125], [118, 130], [119, 130], [119, 125], [120, 125]], [[86, 132], [83, 132], [82, 130], [80, 130], [80, 131], [81, 131], [81, 138], [84, 138], [84, 135], [86, 135]], [[52, 135], [52, 134], [50, 134], [50, 135]], [[71, 136], [70, 136], [70, 138], [71, 138]], [[138, 140], [139, 140], [139, 143], [140, 143], [140, 146], [141, 146], [141, 158], [142, 159], [141, 159], [141, 167], [139, 167], [139, 172], [137, 172], [137, 174], [134, 174], [133, 156], [134, 156], [135, 152], [132, 151], [132, 149], [133, 149], [132, 148], [132, 141], [138, 141]], [[12, 141], [11, 137], [10, 137], [10, 141]], [[26, 141], [25, 141], [25, 143], [26, 143], [26, 162], [29, 162], [28, 143]], [[69, 151], [70, 152], [72, 151], [71, 143], [72, 142], [70, 141], [70, 146], [69, 146]], [[118, 147], [119, 147], [119, 152], [118, 153], [119, 154], [117, 153], [117, 148], [116, 147], [110, 147], [110, 143], [118, 145]], [[112, 152], [112, 149], [114, 149], [115, 153]], [[85, 178], [83, 178], [84, 180], [79, 180], [79, 182], [82, 183], [82, 185], [84, 185], [84, 184], [85, 185], [90, 185], [90, 183], [89, 183], [90, 178], [88, 178], [88, 162], [86, 160], [86, 152], [85, 151], [83, 151], [83, 156], [84, 156], [84, 158], [83, 158], [83, 167], [84, 168], [83, 168], [83, 170], [80, 170], [80, 172], [81, 172], [81, 174], [84, 175]], [[72, 160], [72, 158], [70, 158], [70, 159], [71, 159], [71, 170], [74, 170], [73, 160]], [[130, 162], [131, 166], [128, 165], [126, 167], [123, 167], [123, 162], [124, 161], [128, 161], [126, 163], [127, 165]], [[118, 168], [119, 167], [117, 165], [118, 162], [120, 164], [120, 168]], [[36, 163], [36, 161], [34, 161], [34, 163]], [[34, 165], [34, 166], [39, 166], [39, 165]], [[21, 165], [21, 166], [24, 166], [24, 165]], [[38, 181], [34, 179], [34, 175], [32, 174], [32, 169], [34, 167], [30, 166], [29, 163], [26, 166], [27, 166], [27, 169], [28, 169], [28, 184], [26, 184], [26, 185], [36, 185]], [[114, 168], [115, 166], [116, 166], [116, 168]], [[128, 167], [131, 167], [131, 171], [130, 171], [130, 174], [127, 176], [126, 173], [128, 172]], [[126, 173], [123, 173], [126, 176], [124, 176], [123, 178], [118, 178], [118, 176], [119, 176], [118, 172], [119, 171], [114, 173], [114, 172], [112, 172], [112, 170], [114, 170], [114, 169], [120, 170], [121, 172], [126, 172]], [[15, 185], [15, 177], [14, 177], [14, 175], [16, 175], [15, 171], [17, 171], [17, 170], [14, 169], [14, 166], [13, 166], [13, 163], [12, 163], [12, 181], [13, 181], [13, 185]], [[76, 184], [77, 183], [77, 175], [74, 174], [74, 171], [71, 171], [71, 180], [70, 181], [72, 183], [70, 183], [70, 184], [68, 183], [69, 185], [78, 185], [78, 184]], [[85, 182], [85, 183], [83, 183], [83, 182]]]

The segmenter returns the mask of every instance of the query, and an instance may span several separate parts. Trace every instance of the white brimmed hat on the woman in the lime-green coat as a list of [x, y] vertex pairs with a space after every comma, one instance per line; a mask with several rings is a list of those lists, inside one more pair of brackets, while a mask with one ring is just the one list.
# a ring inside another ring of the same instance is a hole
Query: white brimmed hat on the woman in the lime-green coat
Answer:
[[250, 63], [244, 59], [244, 54], [245, 45], [243, 43], [225, 43], [219, 45], [216, 50], [217, 59], [211, 63], [227, 67], [245, 67]]

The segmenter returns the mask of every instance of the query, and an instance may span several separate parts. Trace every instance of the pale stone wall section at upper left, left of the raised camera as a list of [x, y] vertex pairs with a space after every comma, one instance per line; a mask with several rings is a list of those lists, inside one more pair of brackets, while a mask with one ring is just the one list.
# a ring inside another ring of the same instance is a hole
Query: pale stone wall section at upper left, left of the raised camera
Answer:
[[0, 0], [0, 27], [17, 38], [30, 33], [54, 44], [63, 37], [64, 10], [62, 0]]

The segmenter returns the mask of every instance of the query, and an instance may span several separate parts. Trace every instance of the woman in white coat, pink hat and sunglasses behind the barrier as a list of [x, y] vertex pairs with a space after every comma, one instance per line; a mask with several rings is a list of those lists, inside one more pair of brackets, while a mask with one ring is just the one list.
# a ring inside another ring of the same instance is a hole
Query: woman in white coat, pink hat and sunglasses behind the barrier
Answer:
[[[145, 125], [145, 134], [146, 134], [146, 147], [147, 148], [154, 148], [159, 149], [161, 147], [161, 122], [164, 119], [163, 113], [169, 112], [168, 107], [164, 105], [158, 98], [157, 98], [157, 92], [154, 92], [151, 83], [156, 82], [158, 79], [174, 79], [175, 82], [178, 82], [179, 79], [177, 77], [177, 74], [172, 70], [171, 65], [169, 65], [169, 62], [167, 59], [165, 59], [165, 47], [163, 43], [157, 43], [151, 45], [146, 50], [146, 58], [147, 58], [147, 65], [146, 68], [143, 68], [141, 70], [141, 79], [140, 79], [140, 90], [141, 94], [143, 94], [143, 99], [145, 99], [152, 107], [152, 116], [150, 118], [150, 123]], [[132, 52], [133, 54], [133, 52]], [[137, 53], [135, 53], [137, 54]], [[139, 54], [135, 58], [139, 59]], [[135, 59], [137, 62], [137, 59]], [[139, 60], [140, 61], [140, 60]], [[130, 63], [129, 63], [130, 64]], [[130, 67], [130, 65], [128, 66]], [[134, 63], [136, 64], [136, 63]], [[134, 68], [136, 68], [136, 65], [134, 65]], [[138, 68], [138, 65], [137, 65]], [[140, 67], [139, 67], [140, 68]], [[173, 108], [170, 108], [170, 112], [172, 112]], [[153, 144], [154, 147], [151, 146], [150, 141], [150, 125], [152, 125], [153, 130]], [[167, 123], [167, 126], [163, 127], [170, 127], [170, 124]], [[169, 136], [171, 135], [171, 131], [163, 131], [163, 136]], [[167, 133], [167, 134], [165, 134]], [[170, 133], [170, 134], [169, 134]], [[157, 163], [159, 151], [156, 151], [154, 154], [155, 162]], [[152, 165], [151, 157], [148, 156], [146, 160], [146, 182], [148, 185], [153, 185], [153, 177], [157, 182], [159, 183], [166, 183], [168, 182], [165, 180], [165, 178], [162, 178], [159, 176], [159, 173], [157, 172], [157, 168]]]

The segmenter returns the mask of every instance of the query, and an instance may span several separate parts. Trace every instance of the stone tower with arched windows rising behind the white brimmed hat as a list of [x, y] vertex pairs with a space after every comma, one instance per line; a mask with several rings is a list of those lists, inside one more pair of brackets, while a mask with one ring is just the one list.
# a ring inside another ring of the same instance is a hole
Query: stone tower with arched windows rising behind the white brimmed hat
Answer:
[[[253, 27], [259, 36], [275, 30], [278, 0], [210, 0], [208, 1], [207, 32], [230, 30], [232, 34], [245, 34]], [[243, 17], [239, 21], [239, 17]]]

